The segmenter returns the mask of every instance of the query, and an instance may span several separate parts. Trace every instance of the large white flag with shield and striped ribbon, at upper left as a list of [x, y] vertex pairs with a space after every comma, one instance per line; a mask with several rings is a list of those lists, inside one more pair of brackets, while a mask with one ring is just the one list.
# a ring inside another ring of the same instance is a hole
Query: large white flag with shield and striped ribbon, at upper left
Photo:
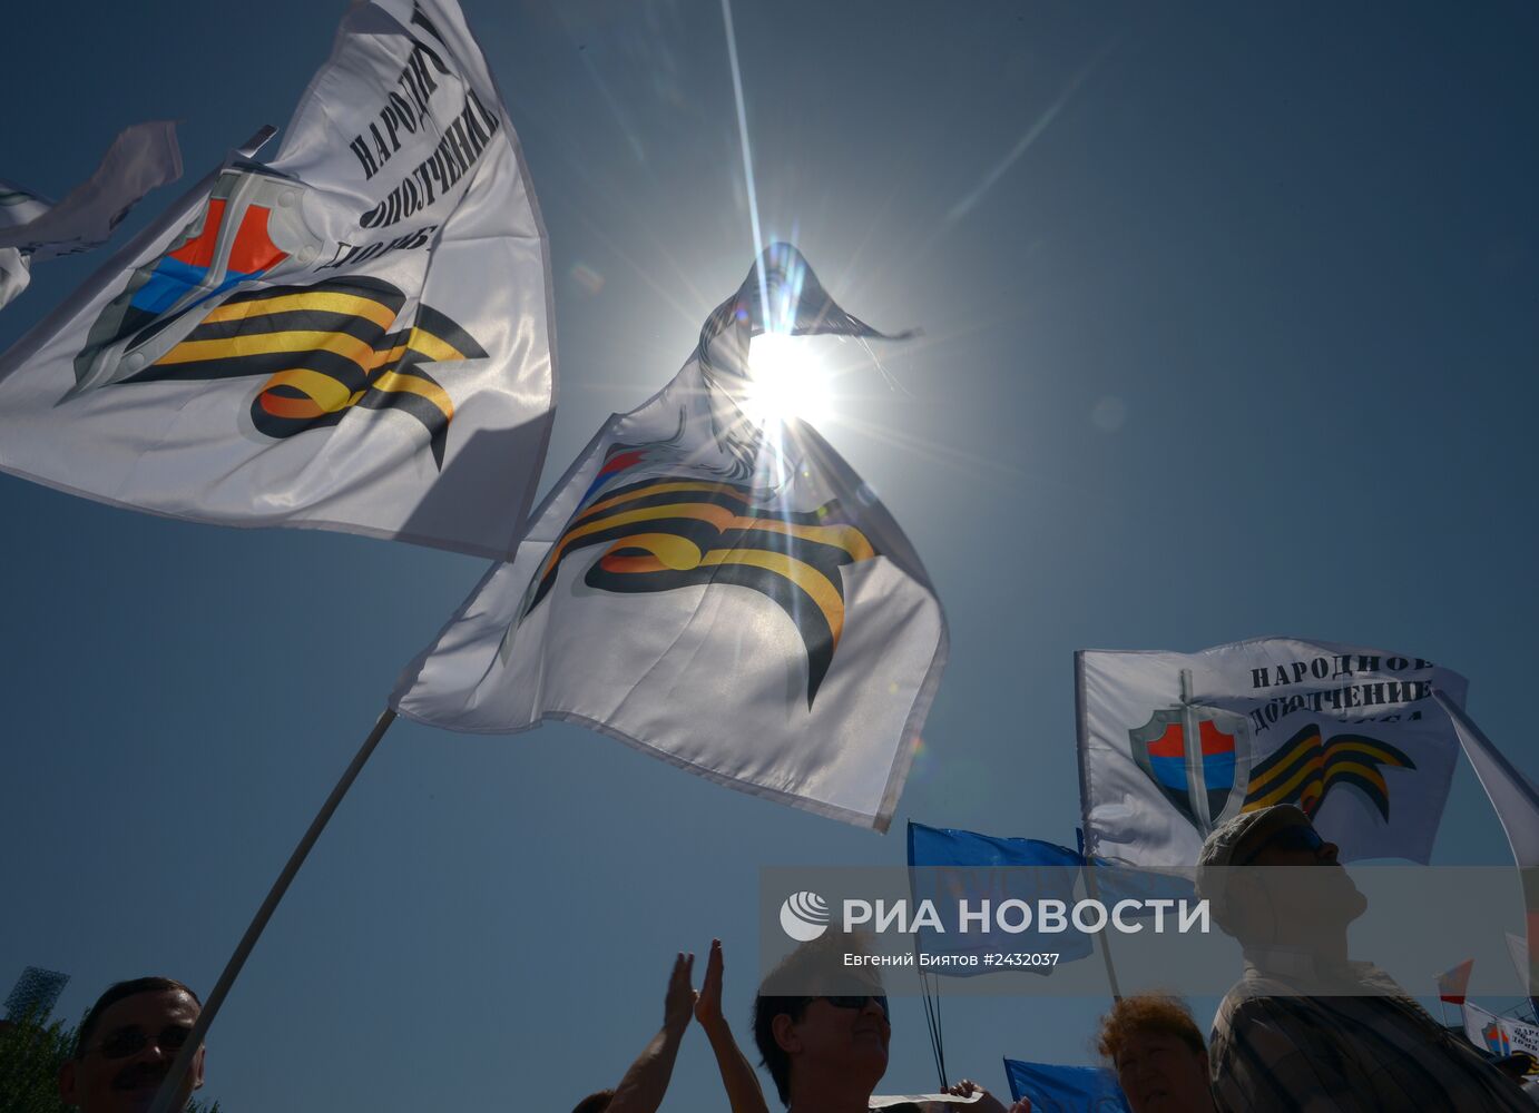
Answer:
[[457, 6], [354, 6], [275, 160], [254, 151], [0, 361], [0, 469], [506, 555], [549, 427], [548, 252]]

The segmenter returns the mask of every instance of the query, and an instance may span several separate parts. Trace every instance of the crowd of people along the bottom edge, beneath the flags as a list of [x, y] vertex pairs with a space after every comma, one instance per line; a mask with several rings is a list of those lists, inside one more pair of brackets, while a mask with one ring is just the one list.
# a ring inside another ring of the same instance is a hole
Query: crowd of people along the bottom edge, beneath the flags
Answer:
[[[1320, 870], [1304, 875], [1316, 882], [1308, 899], [1297, 889], [1300, 870]], [[1123, 998], [1102, 1019], [1099, 1052], [1133, 1113], [1533, 1113], [1517, 1082], [1533, 1065], [1527, 1056], [1484, 1058], [1382, 970], [1348, 959], [1347, 929], [1367, 902], [1337, 862], [1337, 849], [1299, 809], [1247, 812], [1216, 829], [1202, 847], [1197, 890], [1244, 947], [1245, 970], [1207, 1038], [1182, 1001], [1159, 993]], [[760, 984], [754, 1048], [790, 1113], [863, 1113], [888, 1067], [888, 999], [870, 968], [831, 965], [834, 952], [820, 942], [793, 952]], [[711, 1044], [726, 1108], [770, 1113], [759, 1075], [722, 1012], [720, 941], [711, 944], [699, 992], [693, 968], [693, 955], [680, 953], [657, 1035], [613, 1088], [588, 1095], [573, 1113], [659, 1110], [691, 1024]], [[819, 992], [805, 992], [814, 984]], [[200, 1008], [197, 995], [169, 978], [112, 985], [80, 1025], [74, 1058], [60, 1073], [62, 1096], [83, 1113], [143, 1110]], [[199, 1048], [175, 1108], [202, 1084]], [[971, 1079], [946, 1095], [966, 1104], [940, 1101], [936, 1113], [1031, 1110], [1028, 1099], [1007, 1110]]]

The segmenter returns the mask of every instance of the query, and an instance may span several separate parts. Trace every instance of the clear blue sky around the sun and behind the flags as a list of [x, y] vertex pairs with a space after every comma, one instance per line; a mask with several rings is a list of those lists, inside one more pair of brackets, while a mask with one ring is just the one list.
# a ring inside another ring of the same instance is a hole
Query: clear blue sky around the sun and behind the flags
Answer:
[[[549, 483], [674, 374], [754, 255], [722, 12], [465, 8], [549, 229]], [[35, 6], [0, 175], [57, 197], [119, 129], [171, 117], [191, 180], [286, 123], [340, 14]], [[876, 327], [925, 331], [882, 349], [900, 390], [845, 352], [823, 426], [951, 624], [894, 835], [576, 727], [397, 724], [209, 1041], [208, 1093], [232, 1113], [569, 1107], [619, 1078], [673, 953], [713, 935], [745, 1035], [760, 865], [894, 864], [908, 818], [1073, 842], [1074, 649], [1405, 650], [1467, 675], [1485, 732], [1539, 769], [1531, 8], [873, 0], [734, 18], [765, 235]], [[95, 261], [38, 266], [0, 343]], [[9, 477], [0, 515], [0, 981], [71, 972], [69, 1016], [146, 972], [208, 988], [483, 563]], [[1436, 861], [1507, 855], [1461, 770]], [[953, 1002], [948, 1062], [999, 1090], [1005, 1055], [1088, 1062], [1105, 1004]], [[930, 1087], [919, 1002], [894, 1025], [883, 1088]], [[717, 1104], [696, 1032], [671, 1107]]]

